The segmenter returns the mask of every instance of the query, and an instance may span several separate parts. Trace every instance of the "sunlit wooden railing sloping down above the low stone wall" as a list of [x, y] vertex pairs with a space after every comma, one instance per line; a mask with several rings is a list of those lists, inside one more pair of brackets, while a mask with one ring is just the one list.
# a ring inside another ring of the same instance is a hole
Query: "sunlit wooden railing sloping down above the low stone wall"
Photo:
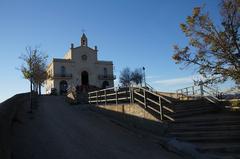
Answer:
[[165, 97], [142, 87], [107, 88], [88, 93], [90, 104], [137, 103], [163, 120], [174, 121], [172, 102]]

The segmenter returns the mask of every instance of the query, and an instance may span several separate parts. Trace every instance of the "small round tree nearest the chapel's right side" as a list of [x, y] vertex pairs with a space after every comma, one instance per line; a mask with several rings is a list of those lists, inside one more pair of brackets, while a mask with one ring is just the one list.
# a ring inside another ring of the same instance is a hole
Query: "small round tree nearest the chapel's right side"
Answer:
[[131, 70], [129, 67], [124, 68], [119, 77], [119, 82], [124, 87], [129, 87], [131, 84]]

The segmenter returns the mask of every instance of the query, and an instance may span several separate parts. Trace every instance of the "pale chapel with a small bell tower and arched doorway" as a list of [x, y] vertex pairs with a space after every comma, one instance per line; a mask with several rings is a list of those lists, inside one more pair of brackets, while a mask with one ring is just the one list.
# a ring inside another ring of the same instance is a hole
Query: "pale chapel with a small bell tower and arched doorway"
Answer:
[[47, 67], [49, 78], [46, 80], [46, 93], [55, 89], [58, 94], [65, 94], [70, 87], [80, 91], [114, 86], [113, 62], [99, 61], [98, 49], [88, 46], [87, 36], [83, 33], [80, 46], [70, 49], [64, 58], [53, 58]]

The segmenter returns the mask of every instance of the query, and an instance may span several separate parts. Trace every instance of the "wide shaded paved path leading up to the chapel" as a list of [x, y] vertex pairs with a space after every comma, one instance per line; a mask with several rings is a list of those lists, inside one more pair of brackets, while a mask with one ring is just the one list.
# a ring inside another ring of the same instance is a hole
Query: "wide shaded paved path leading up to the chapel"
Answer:
[[25, 116], [14, 126], [13, 159], [179, 158], [87, 105], [70, 106], [61, 97], [40, 97], [38, 109]]

